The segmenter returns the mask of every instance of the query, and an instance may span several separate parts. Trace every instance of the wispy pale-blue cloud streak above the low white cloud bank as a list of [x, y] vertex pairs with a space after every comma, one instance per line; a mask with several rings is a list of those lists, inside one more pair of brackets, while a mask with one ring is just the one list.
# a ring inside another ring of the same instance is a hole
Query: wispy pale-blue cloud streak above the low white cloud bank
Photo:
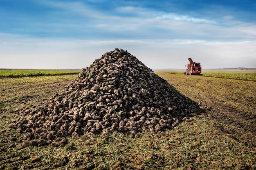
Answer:
[[[232, 41], [232, 39], [256, 39], [256, 25], [237, 22], [225, 15], [225, 26], [219, 20], [204, 17], [165, 13], [142, 7], [119, 6], [113, 10], [99, 11], [83, 2], [43, 1], [42, 3], [63, 10], [69, 15], [84, 17], [72, 23], [59, 23], [55, 30], [77, 32], [84, 37], [125, 39], [204, 39]], [[66, 34], [67, 35], [67, 34]], [[79, 37], [80, 38], [80, 37]]]

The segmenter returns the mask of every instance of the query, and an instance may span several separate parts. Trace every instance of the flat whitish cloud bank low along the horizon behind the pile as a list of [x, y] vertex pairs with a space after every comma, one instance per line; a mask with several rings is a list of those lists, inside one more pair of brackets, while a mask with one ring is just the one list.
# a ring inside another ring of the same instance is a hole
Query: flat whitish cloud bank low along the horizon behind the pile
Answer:
[[[1, 34], [2, 36], [2, 34]], [[77, 40], [4, 35], [0, 68], [77, 68], [90, 66], [105, 52], [122, 48], [149, 68], [184, 68], [192, 57], [203, 68], [256, 68], [256, 41], [193, 39]], [[6, 41], [9, 39], [8, 41]]]

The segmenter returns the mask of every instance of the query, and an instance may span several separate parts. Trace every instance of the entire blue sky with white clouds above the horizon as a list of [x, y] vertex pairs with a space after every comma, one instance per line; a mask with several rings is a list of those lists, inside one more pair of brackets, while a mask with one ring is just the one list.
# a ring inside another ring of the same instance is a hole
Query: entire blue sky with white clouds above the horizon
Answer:
[[256, 68], [256, 1], [0, 0], [0, 68], [81, 69], [115, 48], [151, 69]]

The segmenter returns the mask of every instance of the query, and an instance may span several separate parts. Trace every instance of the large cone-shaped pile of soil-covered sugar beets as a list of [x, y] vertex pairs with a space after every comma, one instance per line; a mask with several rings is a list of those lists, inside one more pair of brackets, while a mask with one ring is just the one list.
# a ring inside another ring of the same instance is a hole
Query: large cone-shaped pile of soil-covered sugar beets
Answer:
[[52, 98], [19, 111], [18, 121], [10, 127], [23, 134], [18, 140], [23, 147], [65, 146], [67, 136], [84, 133], [163, 133], [199, 111], [195, 102], [135, 56], [116, 48], [83, 68]]

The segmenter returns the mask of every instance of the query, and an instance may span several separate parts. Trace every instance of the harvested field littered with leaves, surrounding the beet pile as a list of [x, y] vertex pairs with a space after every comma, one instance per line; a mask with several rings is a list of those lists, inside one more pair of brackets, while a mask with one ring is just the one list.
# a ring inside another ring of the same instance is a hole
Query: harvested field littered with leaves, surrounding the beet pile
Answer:
[[67, 137], [69, 143], [59, 148], [22, 148], [11, 142], [10, 137], [20, 135], [9, 124], [17, 121], [16, 108], [25, 110], [43, 102], [77, 74], [0, 78], [0, 169], [256, 169], [255, 72], [156, 74], [201, 103], [204, 113], [163, 135], [149, 131], [137, 139], [123, 133], [83, 135]]

